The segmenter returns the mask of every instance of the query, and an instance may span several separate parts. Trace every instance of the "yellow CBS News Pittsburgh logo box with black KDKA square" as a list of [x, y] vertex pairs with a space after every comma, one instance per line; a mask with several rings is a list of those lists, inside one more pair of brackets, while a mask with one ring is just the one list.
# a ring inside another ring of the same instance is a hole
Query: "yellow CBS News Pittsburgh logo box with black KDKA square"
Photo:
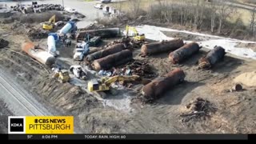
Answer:
[[74, 117], [9, 116], [8, 134], [74, 134]]

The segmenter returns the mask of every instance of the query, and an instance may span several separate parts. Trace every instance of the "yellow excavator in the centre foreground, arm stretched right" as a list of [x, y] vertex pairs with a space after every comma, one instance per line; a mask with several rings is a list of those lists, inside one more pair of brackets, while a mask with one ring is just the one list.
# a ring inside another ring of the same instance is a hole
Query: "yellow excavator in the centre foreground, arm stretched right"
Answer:
[[123, 75], [116, 75], [114, 77], [102, 77], [100, 81], [93, 79], [88, 82], [87, 89], [90, 92], [98, 92], [98, 91], [105, 91], [110, 90], [110, 85], [113, 82], [125, 82], [125, 81], [138, 81], [140, 76], [138, 75], [131, 75], [131, 76], [123, 76]]

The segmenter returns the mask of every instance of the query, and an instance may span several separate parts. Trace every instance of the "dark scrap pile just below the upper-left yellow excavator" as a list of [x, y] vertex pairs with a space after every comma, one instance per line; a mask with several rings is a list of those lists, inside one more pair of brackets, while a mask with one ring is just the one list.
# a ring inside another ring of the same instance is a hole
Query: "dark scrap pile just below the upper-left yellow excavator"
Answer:
[[32, 28], [28, 30], [27, 35], [32, 39], [42, 39], [48, 37], [48, 32], [46, 30]]

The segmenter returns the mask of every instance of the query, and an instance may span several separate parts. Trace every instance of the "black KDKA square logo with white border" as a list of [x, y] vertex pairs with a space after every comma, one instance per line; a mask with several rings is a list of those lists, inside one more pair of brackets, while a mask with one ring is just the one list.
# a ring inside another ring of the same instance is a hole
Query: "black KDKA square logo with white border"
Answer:
[[9, 134], [25, 134], [25, 117], [8, 117]]

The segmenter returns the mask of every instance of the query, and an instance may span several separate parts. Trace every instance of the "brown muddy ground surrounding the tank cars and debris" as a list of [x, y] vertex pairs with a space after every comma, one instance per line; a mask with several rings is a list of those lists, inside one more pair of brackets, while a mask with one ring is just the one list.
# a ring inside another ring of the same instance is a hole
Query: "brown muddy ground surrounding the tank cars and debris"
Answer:
[[[156, 102], [142, 105], [140, 102], [130, 103], [130, 98], [140, 94], [142, 85], [134, 86], [132, 90], [120, 90], [118, 95], [101, 101], [84, 90], [90, 79], [80, 82], [80, 86], [74, 86], [75, 82], [61, 84], [51, 77], [50, 68], [45, 70], [23, 53], [21, 44], [29, 39], [26, 34], [17, 33], [11, 30], [10, 25], [1, 24], [0, 38], [10, 42], [8, 48], [0, 50], [2, 69], [17, 78], [24, 89], [40, 95], [42, 102], [63, 114], [74, 115], [75, 124], [84, 133], [256, 133], [256, 88], [245, 86], [245, 90], [228, 92], [238, 74], [255, 70], [256, 62], [250, 59], [226, 54], [226, 58], [212, 70], [198, 70], [198, 58], [208, 50], [202, 49], [186, 62], [173, 65], [167, 58], [168, 53], [141, 58], [138, 56], [140, 50], [136, 49], [134, 59], [150, 62], [158, 75], [166, 74], [176, 67], [186, 73], [186, 82], [175, 86]], [[46, 45], [46, 39], [37, 42]], [[66, 63], [66, 67], [79, 63], [72, 60], [73, 47], [58, 50], [61, 52], [59, 61]], [[182, 122], [180, 114], [186, 112], [186, 105], [198, 97], [210, 101], [217, 111], [210, 114], [209, 118]]]

